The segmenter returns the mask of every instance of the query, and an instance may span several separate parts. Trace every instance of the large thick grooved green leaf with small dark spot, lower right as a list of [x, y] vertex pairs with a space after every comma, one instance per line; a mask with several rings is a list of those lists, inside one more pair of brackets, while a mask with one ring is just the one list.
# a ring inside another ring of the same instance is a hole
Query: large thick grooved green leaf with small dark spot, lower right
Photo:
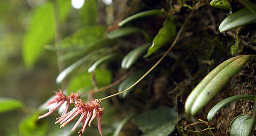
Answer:
[[185, 112], [195, 115], [236, 75], [236, 73], [255, 55], [240, 55], [228, 59], [213, 69], [192, 90], [186, 99]]

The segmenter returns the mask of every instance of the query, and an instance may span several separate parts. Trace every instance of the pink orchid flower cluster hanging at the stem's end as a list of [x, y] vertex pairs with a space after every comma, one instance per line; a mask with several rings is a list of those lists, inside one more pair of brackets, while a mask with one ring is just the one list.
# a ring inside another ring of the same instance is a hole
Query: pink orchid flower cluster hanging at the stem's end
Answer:
[[[68, 96], [64, 95], [64, 93], [61, 90], [55, 93], [56, 93], [55, 96], [46, 104], [46, 106], [49, 106], [51, 104], [55, 104], [55, 106], [50, 108], [48, 113], [45, 113], [44, 115], [39, 116], [38, 119], [49, 116], [54, 110], [58, 109], [58, 107], [60, 107], [66, 101], [65, 110], [63, 111], [60, 117], [56, 118], [57, 121], [55, 122], [55, 124], [60, 123], [61, 124], [60, 128], [64, 127], [66, 124], [71, 122], [76, 116], [79, 116], [81, 114], [78, 121], [76, 122], [76, 124], [71, 130], [71, 131], [76, 130], [76, 127], [79, 125], [80, 122], [82, 122], [81, 130], [79, 130], [78, 132], [79, 136], [81, 136], [81, 133], [84, 133], [87, 123], [88, 123], [88, 126], [90, 127], [91, 122], [97, 116], [98, 130], [100, 135], [103, 136], [102, 130], [101, 130], [101, 118], [102, 118], [104, 108], [100, 107], [99, 100], [93, 100], [85, 103], [82, 99], [80, 99], [79, 93], [75, 94], [72, 92]], [[67, 112], [71, 103], [74, 103], [75, 107], [72, 110], [70, 110], [70, 112]]]

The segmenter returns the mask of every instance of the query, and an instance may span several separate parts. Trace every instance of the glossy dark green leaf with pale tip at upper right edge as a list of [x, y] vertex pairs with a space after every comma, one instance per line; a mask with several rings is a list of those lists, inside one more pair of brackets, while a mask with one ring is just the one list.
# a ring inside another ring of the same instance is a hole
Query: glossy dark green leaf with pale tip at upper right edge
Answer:
[[[256, 6], [256, 3], [253, 5]], [[219, 32], [225, 32], [239, 26], [244, 26], [255, 20], [256, 13], [251, 12], [247, 7], [245, 7], [225, 18], [219, 26]]]

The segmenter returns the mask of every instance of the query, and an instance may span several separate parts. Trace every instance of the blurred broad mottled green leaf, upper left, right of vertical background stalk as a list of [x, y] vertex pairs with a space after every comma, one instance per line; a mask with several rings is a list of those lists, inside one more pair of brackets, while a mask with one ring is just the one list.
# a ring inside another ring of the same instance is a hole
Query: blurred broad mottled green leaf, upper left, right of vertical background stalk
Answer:
[[82, 49], [92, 46], [106, 35], [105, 26], [85, 26], [56, 44], [56, 47]]

